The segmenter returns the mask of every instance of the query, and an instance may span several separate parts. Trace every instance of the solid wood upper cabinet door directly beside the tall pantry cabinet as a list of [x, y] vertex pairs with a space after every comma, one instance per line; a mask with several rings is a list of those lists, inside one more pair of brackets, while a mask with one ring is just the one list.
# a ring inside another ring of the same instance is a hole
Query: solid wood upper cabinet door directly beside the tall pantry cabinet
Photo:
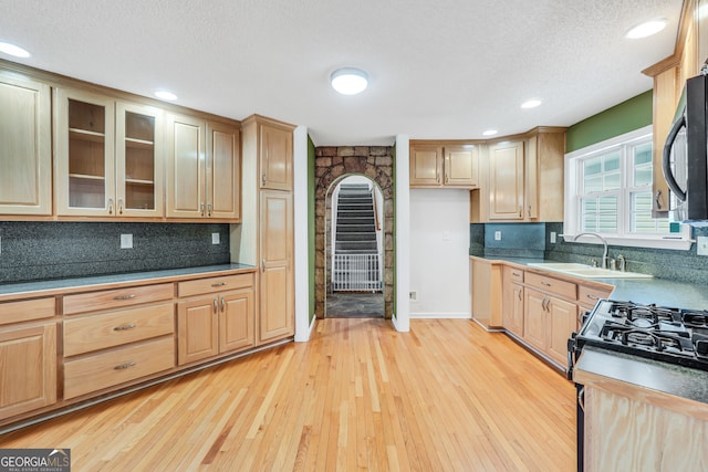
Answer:
[[207, 124], [207, 217], [241, 218], [241, 156], [239, 130]]

